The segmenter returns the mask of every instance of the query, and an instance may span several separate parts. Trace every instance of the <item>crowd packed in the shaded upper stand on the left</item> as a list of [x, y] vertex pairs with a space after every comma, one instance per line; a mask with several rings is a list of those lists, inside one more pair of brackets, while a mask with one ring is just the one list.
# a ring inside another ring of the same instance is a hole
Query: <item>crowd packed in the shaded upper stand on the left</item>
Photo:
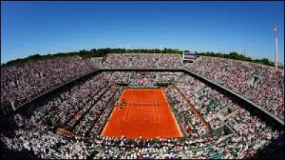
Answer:
[[96, 62], [70, 56], [1, 68], [1, 108], [19, 106], [56, 84], [98, 69]]

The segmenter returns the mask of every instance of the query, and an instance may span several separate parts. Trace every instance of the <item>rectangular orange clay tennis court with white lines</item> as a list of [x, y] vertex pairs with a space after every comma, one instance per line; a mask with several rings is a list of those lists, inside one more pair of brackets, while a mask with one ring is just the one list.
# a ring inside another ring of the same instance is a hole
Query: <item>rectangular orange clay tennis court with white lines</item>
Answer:
[[[120, 109], [122, 99], [126, 104]], [[162, 89], [125, 89], [101, 136], [154, 139], [182, 137]]]

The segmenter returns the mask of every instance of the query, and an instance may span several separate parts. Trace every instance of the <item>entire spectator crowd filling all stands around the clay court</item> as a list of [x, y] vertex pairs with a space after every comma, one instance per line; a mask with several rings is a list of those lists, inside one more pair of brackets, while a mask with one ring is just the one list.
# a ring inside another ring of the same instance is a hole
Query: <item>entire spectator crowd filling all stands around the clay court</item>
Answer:
[[[98, 64], [69, 57], [1, 69], [1, 106], [2, 99], [4, 103], [8, 100], [19, 104], [54, 84], [97, 69]], [[101, 66], [177, 69], [182, 62], [179, 55], [172, 54], [109, 54]], [[227, 86], [276, 116], [282, 118], [283, 113], [284, 119], [284, 70], [210, 57], [200, 57], [187, 69]], [[252, 75], [260, 79], [250, 81]], [[120, 84], [155, 86], [160, 81], [170, 81], [163, 89], [185, 137], [100, 136], [123, 91]], [[280, 139], [284, 131], [265, 123], [258, 113], [247, 111], [227, 95], [180, 72], [102, 72], [11, 116], [18, 126], [12, 136], [1, 132], [1, 143], [11, 151], [28, 150], [42, 159], [251, 159], [271, 141], [284, 144], [284, 138]], [[232, 133], [210, 134], [221, 126], [229, 127]]]

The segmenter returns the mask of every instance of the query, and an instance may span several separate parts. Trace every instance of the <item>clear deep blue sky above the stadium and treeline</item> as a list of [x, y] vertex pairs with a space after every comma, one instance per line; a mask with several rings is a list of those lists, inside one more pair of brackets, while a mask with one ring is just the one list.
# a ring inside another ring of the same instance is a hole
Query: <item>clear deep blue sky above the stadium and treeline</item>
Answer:
[[123, 46], [239, 51], [284, 64], [284, 1], [1, 1], [1, 63]]

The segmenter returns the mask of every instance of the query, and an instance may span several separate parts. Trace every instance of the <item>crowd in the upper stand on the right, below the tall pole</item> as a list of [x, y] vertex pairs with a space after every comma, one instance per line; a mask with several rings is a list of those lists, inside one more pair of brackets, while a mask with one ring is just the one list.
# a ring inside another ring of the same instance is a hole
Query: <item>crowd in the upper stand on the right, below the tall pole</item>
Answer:
[[284, 69], [208, 56], [200, 56], [185, 69], [235, 91], [284, 121]]

